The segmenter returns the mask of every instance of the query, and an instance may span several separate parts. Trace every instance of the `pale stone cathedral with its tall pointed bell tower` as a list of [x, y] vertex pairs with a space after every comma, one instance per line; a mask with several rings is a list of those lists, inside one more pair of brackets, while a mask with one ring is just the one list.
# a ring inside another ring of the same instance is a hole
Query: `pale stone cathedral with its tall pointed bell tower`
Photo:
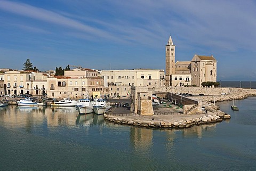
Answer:
[[169, 86], [201, 86], [217, 82], [217, 60], [195, 54], [191, 61], [175, 62], [175, 45], [171, 36], [165, 46], [165, 78]]

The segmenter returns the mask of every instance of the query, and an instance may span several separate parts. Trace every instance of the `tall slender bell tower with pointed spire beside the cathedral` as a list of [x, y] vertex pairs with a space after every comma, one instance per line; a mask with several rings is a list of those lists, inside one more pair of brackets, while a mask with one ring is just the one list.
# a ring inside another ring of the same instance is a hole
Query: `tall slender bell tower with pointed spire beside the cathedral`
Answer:
[[171, 85], [172, 74], [175, 74], [175, 45], [173, 45], [170, 36], [167, 45], [165, 45], [165, 78], [169, 86]]

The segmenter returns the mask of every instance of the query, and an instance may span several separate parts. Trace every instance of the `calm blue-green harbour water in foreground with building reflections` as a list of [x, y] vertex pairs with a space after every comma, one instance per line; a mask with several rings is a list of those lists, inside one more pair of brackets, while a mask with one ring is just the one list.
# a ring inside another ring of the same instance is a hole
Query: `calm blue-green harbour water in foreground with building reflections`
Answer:
[[231, 119], [147, 129], [74, 107], [0, 108], [0, 170], [255, 170], [256, 97], [220, 102]]

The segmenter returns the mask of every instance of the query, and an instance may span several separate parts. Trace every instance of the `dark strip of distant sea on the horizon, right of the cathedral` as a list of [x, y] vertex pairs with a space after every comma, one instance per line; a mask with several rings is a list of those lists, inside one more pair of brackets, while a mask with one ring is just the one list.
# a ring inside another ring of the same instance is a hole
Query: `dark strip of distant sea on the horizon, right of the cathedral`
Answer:
[[252, 88], [256, 89], [256, 82], [223, 82], [220, 83], [219, 87], [236, 87], [236, 88]]

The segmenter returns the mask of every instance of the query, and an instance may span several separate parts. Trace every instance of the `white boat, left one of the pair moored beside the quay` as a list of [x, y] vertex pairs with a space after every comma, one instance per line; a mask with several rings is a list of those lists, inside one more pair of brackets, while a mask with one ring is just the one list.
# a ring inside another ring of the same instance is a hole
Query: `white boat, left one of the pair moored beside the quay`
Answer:
[[76, 109], [79, 114], [84, 115], [93, 112], [93, 105], [90, 99], [80, 99], [76, 104]]

